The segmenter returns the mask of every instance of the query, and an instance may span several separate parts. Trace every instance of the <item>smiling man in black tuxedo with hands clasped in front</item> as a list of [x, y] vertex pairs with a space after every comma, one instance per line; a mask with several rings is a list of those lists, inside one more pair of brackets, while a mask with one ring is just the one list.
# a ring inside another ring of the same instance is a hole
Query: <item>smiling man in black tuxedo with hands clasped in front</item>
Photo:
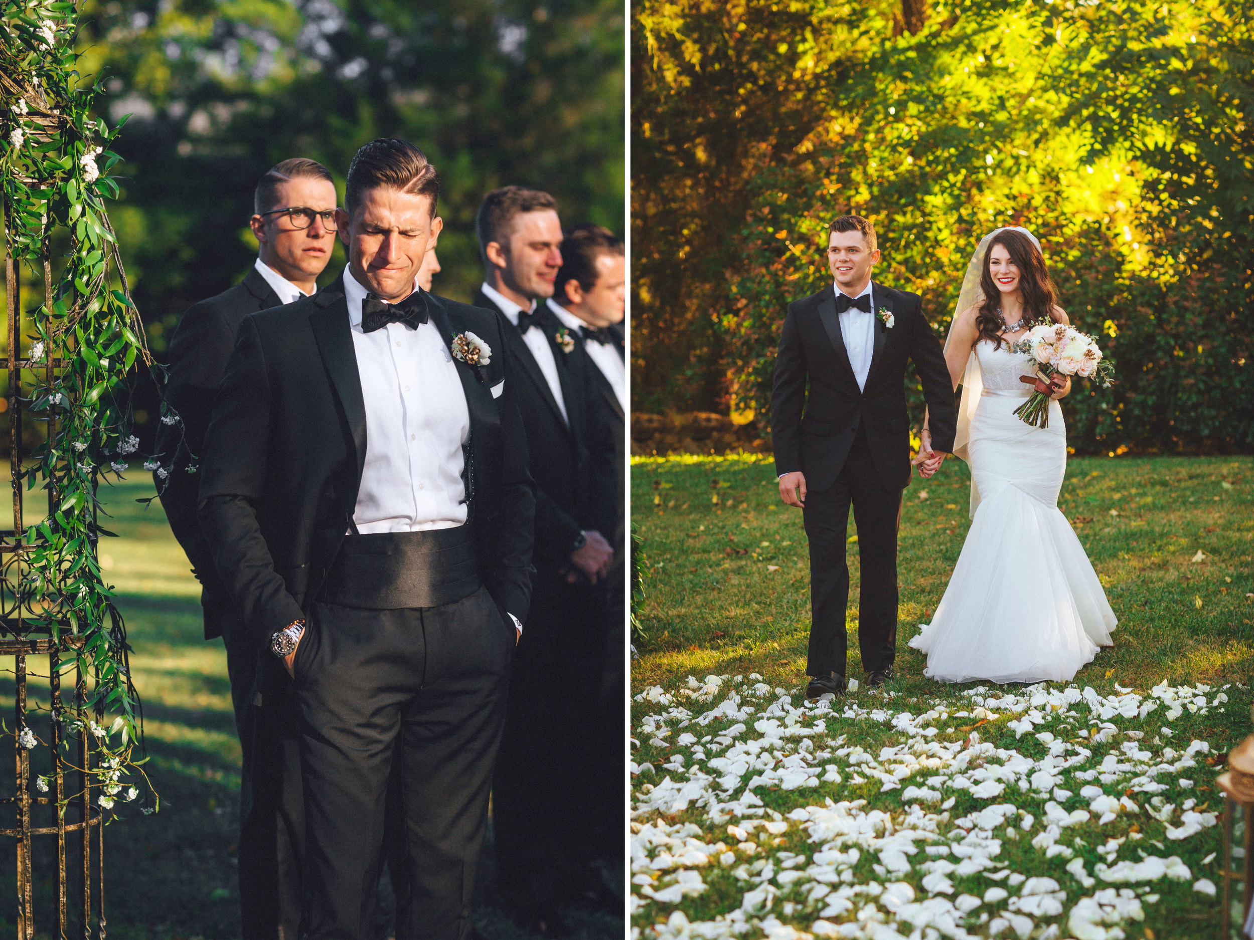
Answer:
[[566, 925], [557, 904], [579, 892], [579, 805], [572, 761], [587, 741], [601, 686], [606, 575], [614, 526], [613, 445], [578, 337], [543, 302], [562, 267], [562, 226], [547, 193], [484, 197], [475, 219], [485, 279], [475, 303], [494, 311], [527, 427], [535, 480], [533, 599], [510, 681], [493, 780], [498, 887], [515, 921], [545, 936]]

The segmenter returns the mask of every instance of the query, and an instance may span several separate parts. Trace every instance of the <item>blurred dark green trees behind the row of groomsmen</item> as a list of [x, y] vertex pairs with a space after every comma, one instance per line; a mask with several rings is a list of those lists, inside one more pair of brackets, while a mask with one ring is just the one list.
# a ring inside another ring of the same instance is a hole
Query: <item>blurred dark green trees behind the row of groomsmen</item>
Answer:
[[623, 231], [616, 0], [83, 0], [80, 24], [102, 112], [133, 115], [110, 217], [158, 357], [183, 310], [252, 263], [252, 191], [287, 157], [326, 164], [342, 197], [367, 140], [426, 150], [444, 180], [435, 291], [456, 300], [482, 279], [474, 213], [494, 187]]

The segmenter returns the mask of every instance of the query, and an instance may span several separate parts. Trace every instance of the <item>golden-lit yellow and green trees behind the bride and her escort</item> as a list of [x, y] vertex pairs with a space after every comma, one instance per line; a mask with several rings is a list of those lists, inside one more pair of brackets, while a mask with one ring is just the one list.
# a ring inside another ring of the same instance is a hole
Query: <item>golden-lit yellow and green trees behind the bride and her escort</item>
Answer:
[[[632, 23], [633, 407], [766, 426], [788, 302], [845, 212], [938, 336], [1023, 224], [1119, 385], [1081, 451], [1254, 444], [1248, 0], [645, 0]], [[915, 396], [922, 416], [922, 399]]]

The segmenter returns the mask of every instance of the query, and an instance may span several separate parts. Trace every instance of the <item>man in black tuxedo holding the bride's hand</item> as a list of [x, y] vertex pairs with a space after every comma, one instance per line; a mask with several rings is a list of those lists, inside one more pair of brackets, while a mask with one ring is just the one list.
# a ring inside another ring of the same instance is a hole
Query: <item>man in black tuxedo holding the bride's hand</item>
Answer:
[[[771, 394], [780, 496], [799, 506], [810, 543], [806, 697], [845, 689], [849, 508], [858, 528], [858, 644], [868, 686], [893, 677], [897, 526], [910, 483], [905, 366], [930, 415], [932, 455], [953, 449], [953, 385], [918, 295], [873, 283], [875, 229], [841, 216], [828, 234], [835, 283], [789, 305]], [[809, 391], [808, 391], [809, 390]]]

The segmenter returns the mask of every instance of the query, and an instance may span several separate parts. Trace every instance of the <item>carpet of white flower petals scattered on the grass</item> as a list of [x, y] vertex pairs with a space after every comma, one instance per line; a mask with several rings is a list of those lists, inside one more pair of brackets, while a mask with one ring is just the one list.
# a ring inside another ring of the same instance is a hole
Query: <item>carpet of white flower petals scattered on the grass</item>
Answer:
[[[1178, 749], [1171, 728], [1146, 723], [1223, 711], [1230, 686], [977, 687], [914, 713], [892, 692], [795, 707], [761, 679], [690, 677], [635, 697], [632, 747], [666, 760], [631, 767], [632, 912], [650, 921], [633, 940], [1124, 940], [1159, 901], [1155, 882], [1215, 895], [1171, 851], [1208, 831], [1218, 845], [1214, 795], [1194, 796], [1211, 747]], [[948, 739], [977, 723], [1028, 741]], [[859, 733], [873, 726], [892, 743]], [[767, 806], [755, 791], [795, 796]], [[739, 901], [690, 920], [678, 907], [715, 881]]]

